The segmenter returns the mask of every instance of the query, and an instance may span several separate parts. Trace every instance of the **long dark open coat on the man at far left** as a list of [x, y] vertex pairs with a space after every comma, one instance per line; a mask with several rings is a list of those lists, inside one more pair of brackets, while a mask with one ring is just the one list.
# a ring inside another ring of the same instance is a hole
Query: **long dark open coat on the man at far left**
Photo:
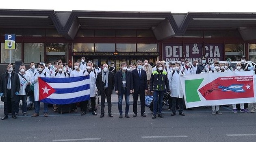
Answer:
[[[0, 81], [0, 93], [4, 93], [1, 101], [7, 102], [7, 83], [8, 83], [9, 73], [5, 72], [1, 75]], [[11, 73], [11, 101], [15, 101], [15, 93], [20, 91], [20, 78], [18, 73]]]

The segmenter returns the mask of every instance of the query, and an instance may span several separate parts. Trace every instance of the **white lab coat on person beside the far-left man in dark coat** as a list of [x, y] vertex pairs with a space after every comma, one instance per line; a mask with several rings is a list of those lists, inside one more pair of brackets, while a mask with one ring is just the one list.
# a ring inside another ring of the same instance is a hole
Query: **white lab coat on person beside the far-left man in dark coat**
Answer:
[[[22, 75], [21, 72], [19, 72], [19, 73]], [[26, 78], [26, 80], [23, 77]], [[31, 84], [31, 75], [30, 75], [30, 73], [28, 71], [26, 71], [25, 74], [23, 74], [23, 77], [21, 77], [19, 75], [19, 78], [20, 78], [20, 91], [19, 91], [19, 95], [26, 95], [25, 88], [26, 88], [28, 82], [30, 82], [30, 84]], [[25, 81], [25, 83], [23, 85], [21, 85], [22, 82], [24, 82], [24, 81]]]

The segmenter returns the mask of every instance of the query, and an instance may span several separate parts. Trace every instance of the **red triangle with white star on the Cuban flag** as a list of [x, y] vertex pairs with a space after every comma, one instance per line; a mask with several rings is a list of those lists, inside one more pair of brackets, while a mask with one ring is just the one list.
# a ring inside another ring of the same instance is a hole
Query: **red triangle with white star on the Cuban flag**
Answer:
[[56, 91], [49, 84], [43, 81], [40, 77], [38, 78], [38, 82], [39, 82], [39, 101], [49, 97]]

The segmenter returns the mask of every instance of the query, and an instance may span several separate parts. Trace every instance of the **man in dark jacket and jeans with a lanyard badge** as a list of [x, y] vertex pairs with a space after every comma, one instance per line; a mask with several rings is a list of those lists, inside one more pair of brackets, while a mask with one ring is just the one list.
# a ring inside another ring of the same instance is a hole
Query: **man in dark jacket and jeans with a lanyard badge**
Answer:
[[118, 110], [119, 118], [123, 118], [122, 101], [125, 99], [125, 117], [130, 118], [129, 112], [129, 99], [133, 90], [132, 73], [127, 70], [126, 62], [121, 62], [121, 69], [115, 74], [115, 93], [118, 94]]

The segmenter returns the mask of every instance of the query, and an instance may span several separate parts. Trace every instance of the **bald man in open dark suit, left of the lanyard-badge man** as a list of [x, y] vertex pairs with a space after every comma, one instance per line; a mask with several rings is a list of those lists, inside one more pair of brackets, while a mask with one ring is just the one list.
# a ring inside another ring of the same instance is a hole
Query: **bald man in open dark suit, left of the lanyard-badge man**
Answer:
[[105, 99], [107, 99], [107, 102], [108, 102], [108, 116], [113, 117], [113, 115], [111, 114], [111, 94], [115, 85], [115, 77], [112, 72], [108, 71], [107, 64], [104, 64], [102, 68], [103, 68], [102, 71], [98, 73], [98, 76], [96, 79], [96, 87], [100, 92], [100, 99], [101, 99], [100, 118], [105, 116], [105, 113], [104, 113]]

